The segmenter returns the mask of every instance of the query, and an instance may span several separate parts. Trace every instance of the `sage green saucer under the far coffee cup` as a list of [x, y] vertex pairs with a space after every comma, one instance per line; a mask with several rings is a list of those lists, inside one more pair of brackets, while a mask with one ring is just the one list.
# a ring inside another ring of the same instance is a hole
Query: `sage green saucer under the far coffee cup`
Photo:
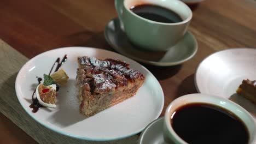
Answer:
[[104, 35], [114, 50], [138, 62], [152, 65], [171, 66], [181, 64], [191, 59], [197, 51], [197, 41], [190, 32], [185, 33], [183, 39], [167, 52], [140, 50], [130, 43], [126, 34], [121, 30], [118, 18], [114, 18], [107, 23]]

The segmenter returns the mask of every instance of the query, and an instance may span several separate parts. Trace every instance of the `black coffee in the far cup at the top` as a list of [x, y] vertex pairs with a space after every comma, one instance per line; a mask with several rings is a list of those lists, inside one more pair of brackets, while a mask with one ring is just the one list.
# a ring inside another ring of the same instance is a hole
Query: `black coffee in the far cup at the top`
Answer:
[[174, 11], [158, 5], [142, 4], [132, 6], [130, 9], [136, 15], [156, 22], [176, 23], [183, 21], [181, 16]]

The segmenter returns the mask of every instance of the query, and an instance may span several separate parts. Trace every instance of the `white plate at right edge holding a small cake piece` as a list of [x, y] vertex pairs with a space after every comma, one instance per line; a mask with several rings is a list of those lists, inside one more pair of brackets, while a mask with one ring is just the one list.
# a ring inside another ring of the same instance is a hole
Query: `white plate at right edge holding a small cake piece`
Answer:
[[195, 86], [199, 93], [230, 99], [249, 111], [256, 120], [256, 105], [236, 94], [242, 80], [256, 80], [256, 49], [228, 49], [213, 53], [199, 65]]

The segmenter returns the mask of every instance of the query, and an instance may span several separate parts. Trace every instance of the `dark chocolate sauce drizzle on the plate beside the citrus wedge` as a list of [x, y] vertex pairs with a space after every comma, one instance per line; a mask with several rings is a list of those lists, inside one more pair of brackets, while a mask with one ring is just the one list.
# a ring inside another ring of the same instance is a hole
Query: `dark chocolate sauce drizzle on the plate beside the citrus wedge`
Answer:
[[[50, 70], [49, 75], [51, 74], [51, 71], [53, 71], [53, 68], [54, 68], [55, 63], [57, 63], [57, 66], [56, 66], [56, 69], [55, 69], [54, 72], [56, 72], [57, 70], [59, 70], [60, 67], [61, 67], [61, 65], [62, 65], [63, 63], [65, 63], [66, 61], [67, 61], [67, 55], [65, 55], [65, 56], [62, 58], [61, 62], [60, 62], [60, 58], [58, 57], [58, 58], [56, 59], [56, 61], [54, 62], [53, 67], [51, 67], [51, 70]], [[40, 78], [40, 77], [38, 77], [37, 81], [38, 81], [38, 85], [39, 85], [39, 84], [43, 81], [43, 79]], [[38, 101], [37, 98], [34, 98], [34, 93], [36, 93], [36, 89], [34, 89], [34, 92], [33, 92], [33, 94], [32, 94], [32, 104], [30, 105], [30, 108], [33, 109], [33, 110], [32, 110], [33, 113], [36, 113], [36, 112], [40, 109], [40, 107], [43, 107], [43, 106], [40, 105], [40, 103], [39, 103], [39, 101]]]

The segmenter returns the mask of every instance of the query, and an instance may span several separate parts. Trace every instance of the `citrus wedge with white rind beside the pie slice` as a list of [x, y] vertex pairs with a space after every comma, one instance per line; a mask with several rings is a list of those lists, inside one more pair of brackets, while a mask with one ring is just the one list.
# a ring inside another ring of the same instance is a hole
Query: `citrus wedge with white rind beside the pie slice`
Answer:
[[36, 95], [39, 103], [45, 107], [55, 108], [56, 101], [56, 85], [44, 87], [42, 83], [37, 86]]

